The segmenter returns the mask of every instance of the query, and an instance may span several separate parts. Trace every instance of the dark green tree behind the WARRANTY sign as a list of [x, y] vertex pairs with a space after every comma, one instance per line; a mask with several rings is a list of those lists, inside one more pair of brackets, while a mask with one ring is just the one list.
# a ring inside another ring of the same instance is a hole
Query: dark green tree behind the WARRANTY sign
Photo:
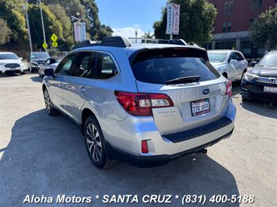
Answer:
[[[180, 5], [179, 34], [176, 39], [195, 42], [199, 45], [211, 41], [211, 28], [217, 14], [216, 8], [206, 0], [169, 0]], [[154, 36], [158, 39], [169, 39], [166, 34], [167, 11], [163, 8], [161, 21], [153, 25]]]

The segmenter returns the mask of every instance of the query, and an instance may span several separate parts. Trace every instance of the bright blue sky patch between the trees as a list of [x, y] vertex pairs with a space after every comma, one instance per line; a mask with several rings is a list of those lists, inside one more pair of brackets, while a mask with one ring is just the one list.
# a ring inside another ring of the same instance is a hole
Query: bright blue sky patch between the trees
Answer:
[[138, 37], [154, 33], [153, 23], [161, 19], [166, 0], [96, 0], [100, 22], [114, 30], [113, 35]]

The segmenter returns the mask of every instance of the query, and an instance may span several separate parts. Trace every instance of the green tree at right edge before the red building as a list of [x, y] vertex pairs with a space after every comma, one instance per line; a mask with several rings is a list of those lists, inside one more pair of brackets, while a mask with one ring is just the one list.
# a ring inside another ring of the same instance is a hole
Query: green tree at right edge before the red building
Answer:
[[250, 32], [254, 43], [277, 44], [277, 8], [260, 14], [250, 26]]

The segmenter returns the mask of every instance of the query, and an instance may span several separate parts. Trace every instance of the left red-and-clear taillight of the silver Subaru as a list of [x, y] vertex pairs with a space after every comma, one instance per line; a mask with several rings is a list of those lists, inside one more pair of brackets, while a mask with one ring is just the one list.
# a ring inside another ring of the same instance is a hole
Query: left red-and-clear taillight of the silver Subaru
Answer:
[[120, 105], [134, 116], [152, 116], [152, 108], [174, 106], [166, 94], [115, 91], [114, 95]]

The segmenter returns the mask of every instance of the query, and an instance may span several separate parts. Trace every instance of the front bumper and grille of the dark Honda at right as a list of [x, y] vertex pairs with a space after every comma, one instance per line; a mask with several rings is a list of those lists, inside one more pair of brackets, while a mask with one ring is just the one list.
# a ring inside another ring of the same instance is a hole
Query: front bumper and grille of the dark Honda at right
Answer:
[[277, 87], [276, 84], [260, 83], [254, 80], [249, 81], [244, 78], [240, 86], [240, 91], [244, 99], [277, 102], [277, 94], [264, 92], [265, 86]]

